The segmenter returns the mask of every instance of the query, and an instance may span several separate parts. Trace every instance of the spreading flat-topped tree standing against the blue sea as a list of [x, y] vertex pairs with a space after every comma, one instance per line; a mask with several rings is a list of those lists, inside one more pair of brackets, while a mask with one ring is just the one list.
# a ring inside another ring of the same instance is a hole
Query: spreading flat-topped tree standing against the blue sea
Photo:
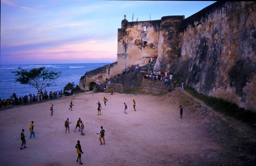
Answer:
[[55, 80], [60, 77], [60, 72], [54, 72], [46, 70], [45, 67], [32, 68], [30, 71], [27, 71], [21, 67], [18, 68], [19, 71], [13, 71], [16, 76], [15, 82], [20, 82], [20, 84], [31, 85], [39, 92], [44, 88], [49, 87], [55, 83]]

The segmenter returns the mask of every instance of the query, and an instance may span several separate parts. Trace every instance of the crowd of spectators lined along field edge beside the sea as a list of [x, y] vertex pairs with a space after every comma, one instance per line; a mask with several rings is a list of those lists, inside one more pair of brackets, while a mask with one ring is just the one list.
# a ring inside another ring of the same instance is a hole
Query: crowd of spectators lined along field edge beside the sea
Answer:
[[57, 90], [57, 91], [50, 91], [49, 94], [44, 90], [44, 92], [37, 92], [37, 94], [28, 94], [25, 96], [16, 96], [15, 93], [12, 94], [10, 98], [7, 99], [1, 99], [0, 98], [0, 108], [6, 108], [9, 106], [15, 106], [15, 105], [22, 105], [22, 104], [27, 104], [27, 103], [33, 103], [33, 102], [38, 102], [41, 100], [47, 100], [47, 99], [57, 99], [62, 97], [63, 91], [62, 90]]

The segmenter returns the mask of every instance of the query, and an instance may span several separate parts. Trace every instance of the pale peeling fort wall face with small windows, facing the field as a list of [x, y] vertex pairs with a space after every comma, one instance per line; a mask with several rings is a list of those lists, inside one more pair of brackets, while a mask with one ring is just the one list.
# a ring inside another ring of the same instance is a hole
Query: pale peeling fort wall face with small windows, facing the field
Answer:
[[[148, 63], [148, 58], [158, 54], [158, 34], [161, 20], [126, 22], [124, 28], [118, 29], [117, 58], [127, 55], [122, 65], [130, 66]], [[145, 31], [143, 26], [146, 26]], [[121, 62], [117, 60], [117, 62]], [[124, 66], [125, 67], [125, 66]]]

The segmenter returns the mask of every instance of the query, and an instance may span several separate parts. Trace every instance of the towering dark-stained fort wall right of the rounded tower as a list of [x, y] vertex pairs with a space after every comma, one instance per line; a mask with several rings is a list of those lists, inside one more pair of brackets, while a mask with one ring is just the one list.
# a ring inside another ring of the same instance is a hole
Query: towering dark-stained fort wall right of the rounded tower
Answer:
[[217, 2], [183, 20], [181, 80], [198, 92], [256, 111], [255, 27], [255, 2]]

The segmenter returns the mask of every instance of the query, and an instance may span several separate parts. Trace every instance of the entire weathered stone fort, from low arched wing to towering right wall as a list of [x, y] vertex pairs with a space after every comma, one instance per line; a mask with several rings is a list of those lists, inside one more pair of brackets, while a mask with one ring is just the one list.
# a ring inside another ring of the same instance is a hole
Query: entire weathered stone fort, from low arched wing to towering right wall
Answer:
[[148, 63], [177, 73], [187, 86], [256, 111], [256, 3], [216, 2], [194, 15], [161, 20], [124, 18], [117, 62], [87, 72], [79, 86], [104, 81], [125, 66]]

